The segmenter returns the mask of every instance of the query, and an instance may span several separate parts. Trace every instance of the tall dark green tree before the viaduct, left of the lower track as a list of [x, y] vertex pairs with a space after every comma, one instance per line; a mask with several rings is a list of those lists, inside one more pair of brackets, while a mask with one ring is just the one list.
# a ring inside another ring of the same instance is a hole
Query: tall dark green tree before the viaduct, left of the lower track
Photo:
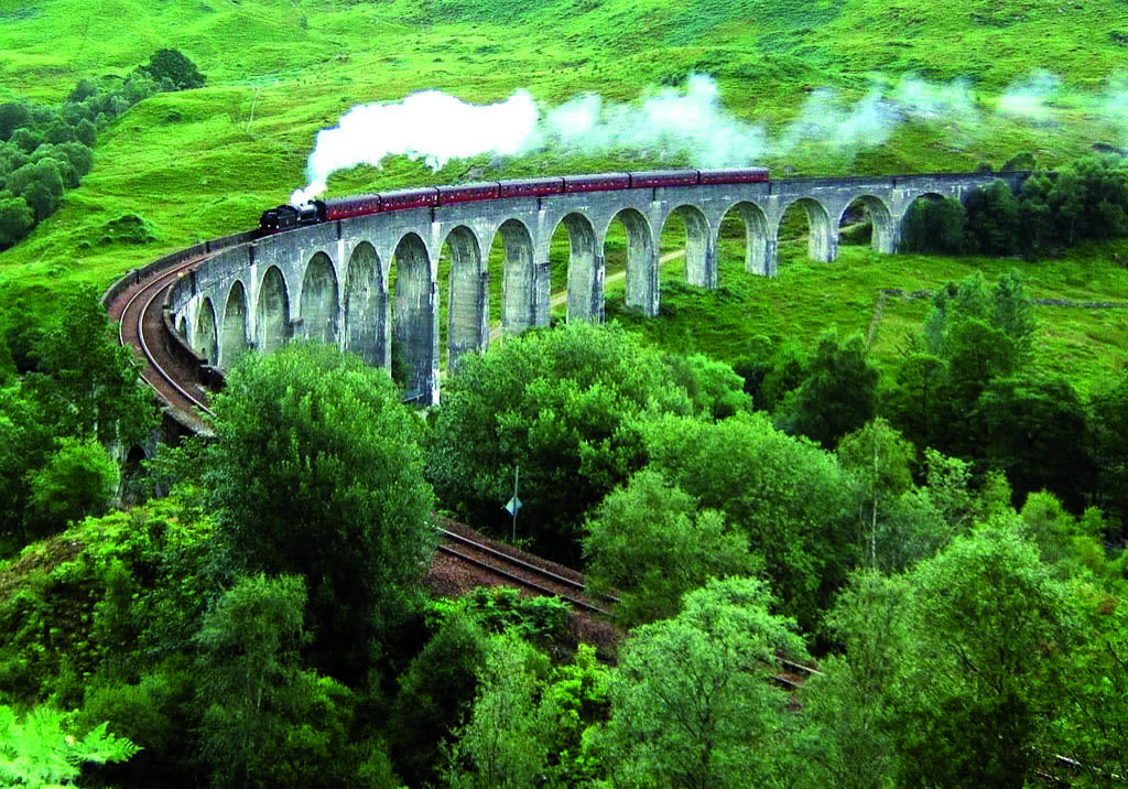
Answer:
[[299, 343], [247, 354], [212, 410], [220, 544], [236, 568], [303, 576], [317, 665], [358, 678], [435, 544], [416, 418], [382, 371]]

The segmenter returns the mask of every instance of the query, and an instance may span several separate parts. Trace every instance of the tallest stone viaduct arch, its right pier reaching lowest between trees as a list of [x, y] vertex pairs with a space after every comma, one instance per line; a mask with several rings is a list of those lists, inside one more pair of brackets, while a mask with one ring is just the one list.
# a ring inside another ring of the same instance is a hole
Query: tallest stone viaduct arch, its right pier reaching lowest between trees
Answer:
[[394, 314], [396, 341], [406, 365], [407, 400], [431, 401], [434, 384], [437, 323], [431, 256], [417, 234], [399, 239], [395, 253], [396, 292]]

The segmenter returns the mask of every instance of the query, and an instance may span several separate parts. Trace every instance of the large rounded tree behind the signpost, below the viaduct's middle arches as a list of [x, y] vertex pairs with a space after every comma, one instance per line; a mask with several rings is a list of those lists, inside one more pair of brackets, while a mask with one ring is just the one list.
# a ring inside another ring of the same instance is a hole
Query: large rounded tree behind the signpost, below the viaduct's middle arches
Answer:
[[662, 357], [618, 325], [526, 332], [459, 363], [429, 472], [446, 507], [508, 534], [519, 467], [532, 549], [571, 563], [587, 510], [645, 464], [640, 418], [691, 409]]

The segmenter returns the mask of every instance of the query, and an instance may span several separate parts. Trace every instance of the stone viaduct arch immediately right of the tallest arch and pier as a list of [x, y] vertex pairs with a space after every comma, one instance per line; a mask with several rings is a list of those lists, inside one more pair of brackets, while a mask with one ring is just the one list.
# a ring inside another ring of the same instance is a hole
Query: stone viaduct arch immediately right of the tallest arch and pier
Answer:
[[482, 260], [478, 237], [466, 226], [447, 234], [450, 282], [447, 290], [447, 369], [458, 358], [490, 342], [490, 274]]

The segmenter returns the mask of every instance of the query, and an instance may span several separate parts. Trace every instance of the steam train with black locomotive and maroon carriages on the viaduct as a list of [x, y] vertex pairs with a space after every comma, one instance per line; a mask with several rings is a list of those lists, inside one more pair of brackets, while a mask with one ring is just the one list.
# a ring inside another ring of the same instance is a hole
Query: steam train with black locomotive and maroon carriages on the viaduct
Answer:
[[653, 170], [647, 173], [600, 173], [597, 175], [564, 175], [550, 178], [522, 181], [490, 181], [455, 186], [426, 186], [423, 189], [360, 194], [334, 200], [312, 200], [301, 205], [279, 205], [263, 211], [258, 221], [261, 235], [291, 230], [296, 227], [332, 222], [337, 219], [363, 217], [386, 211], [413, 208], [433, 208], [473, 203], [481, 200], [504, 198], [544, 198], [574, 192], [603, 192], [628, 189], [659, 189], [666, 186], [697, 186], [703, 184], [750, 184], [768, 179], [766, 167], [744, 167], [719, 170]]

